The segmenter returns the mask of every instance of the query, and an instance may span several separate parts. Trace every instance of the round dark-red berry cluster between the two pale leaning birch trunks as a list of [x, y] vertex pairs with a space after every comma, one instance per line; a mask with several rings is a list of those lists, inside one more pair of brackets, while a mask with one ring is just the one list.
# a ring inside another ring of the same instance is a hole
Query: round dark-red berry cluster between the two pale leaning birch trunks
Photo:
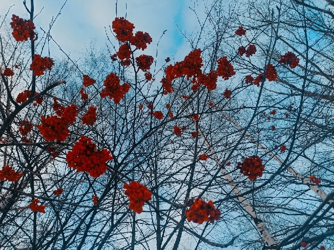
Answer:
[[242, 163], [238, 163], [237, 168], [240, 169], [241, 174], [248, 176], [250, 180], [261, 177], [264, 171], [262, 159], [258, 155], [248, 156]]

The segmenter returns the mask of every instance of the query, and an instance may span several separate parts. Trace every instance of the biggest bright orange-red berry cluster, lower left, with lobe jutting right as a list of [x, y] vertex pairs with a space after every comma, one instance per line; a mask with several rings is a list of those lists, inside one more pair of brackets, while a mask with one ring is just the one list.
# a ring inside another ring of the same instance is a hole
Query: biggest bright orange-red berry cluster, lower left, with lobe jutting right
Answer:
[[95, 150], [96, 144], [91, 138], [81, 136], [72, 151], [66, 154], [66, 161], [70, 168], [78, 172], [88, 172], [92, 177], [98, 177], [107, 170], [106, 162], [113, 160], [107, 149]]

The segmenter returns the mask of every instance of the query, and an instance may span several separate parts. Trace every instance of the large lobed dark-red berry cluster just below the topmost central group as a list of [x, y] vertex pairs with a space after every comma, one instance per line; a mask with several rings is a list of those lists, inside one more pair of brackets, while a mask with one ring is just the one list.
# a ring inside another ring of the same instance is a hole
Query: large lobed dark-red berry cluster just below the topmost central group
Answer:
[[106, 88], [102, 89], [100, 97], [103, 98], [109, 96], [109, 99], [114, 98], [114, 103], [119, 103], [120, 99], [124, 99], [124, 95], [130, 90], [130, 85], [128, 83], [124, 83], [123, 85], [120, 85], [119, 83], [120, 80], [118, 76], [114, 73], [110, 73], [103, 82], [103, 86]]

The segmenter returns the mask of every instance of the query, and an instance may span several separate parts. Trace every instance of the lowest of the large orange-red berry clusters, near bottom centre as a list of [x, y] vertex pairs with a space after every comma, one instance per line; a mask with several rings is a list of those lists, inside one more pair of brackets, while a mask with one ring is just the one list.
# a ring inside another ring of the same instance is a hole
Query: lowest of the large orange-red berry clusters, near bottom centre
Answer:
[[207, 203], [197, 198], [195, 202], [185, 211], [185, 216], [188, 221], [194, 221], [195, 223], [202, 224], [204, 221], [210, 221], [214, 223], [215, 220], [220, 219], [221, 212], [216, 209], [212, 200]]

